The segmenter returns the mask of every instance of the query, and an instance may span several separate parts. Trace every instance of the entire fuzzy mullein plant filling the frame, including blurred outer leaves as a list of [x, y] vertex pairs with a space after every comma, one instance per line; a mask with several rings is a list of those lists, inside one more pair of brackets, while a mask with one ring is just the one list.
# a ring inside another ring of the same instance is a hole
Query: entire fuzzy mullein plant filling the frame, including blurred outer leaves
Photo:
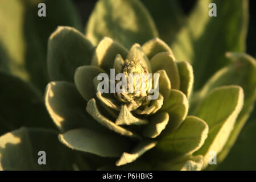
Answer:
[[[201, 170], [212, 167], [210, 154], [222, 162], [253, 109], [256, 62], [243, 53], [247, 1], [233, 1], [232, 7], [214, 1], [217, 17], [208, 16], [209, 3], [198, 1], [181, 26], [171, 15], [158, 21], [154, 1], [144, 4], [156, 25], [138, 0], [100, 0], [85, 35], [76, 23], [52, 32], [47, 69], [33, 67], [38, 74], [18, 62], [23, 57], [3, 53], [1, 101], [7, 104], [0, 113], [0, 168]], [[164, 22], [172, 19], [176, 28]], [[16, 76], [25, 81], [11, 75], [18, 68]], [[158, 73], [158, 97], [148, 100], [150, 93], [141, 89], [99, 92], [98, 75], [111, 77], [111, 69], [127, 79], [130, 73]], [[44, 93], [36, 77], [49, 82]], [[39, 151], [46, 152], [45, 165]]]

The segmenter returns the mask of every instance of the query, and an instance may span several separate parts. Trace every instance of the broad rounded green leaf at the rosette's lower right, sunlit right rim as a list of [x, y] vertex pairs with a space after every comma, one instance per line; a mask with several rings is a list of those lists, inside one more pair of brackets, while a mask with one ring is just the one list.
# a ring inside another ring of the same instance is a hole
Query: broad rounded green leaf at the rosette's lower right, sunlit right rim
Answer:
[[156, 148], [164, 154], [192, 154], [203, 146], [207, 134], [208, 126], [203, 119], [188, 116], [178, 129], [161, 138]]

